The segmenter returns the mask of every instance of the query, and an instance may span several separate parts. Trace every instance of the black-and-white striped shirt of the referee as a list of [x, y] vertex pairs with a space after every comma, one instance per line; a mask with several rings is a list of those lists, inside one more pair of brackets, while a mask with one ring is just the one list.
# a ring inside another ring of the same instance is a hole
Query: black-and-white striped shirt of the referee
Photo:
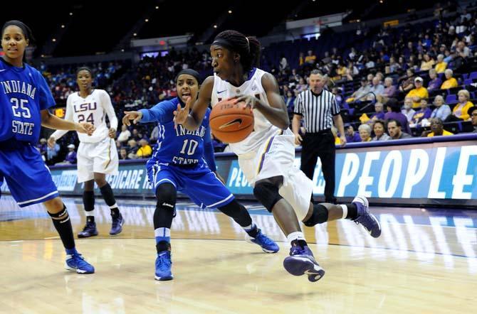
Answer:
[[307, 132], [318, 133], [325, 129], [331, 129], [332, 116], [340, 114], [335, 95], [327, 90], [315, 94], [310, 90], [304, 90], [298, 94], [295, 102], [295, 112], [305, 119]]

